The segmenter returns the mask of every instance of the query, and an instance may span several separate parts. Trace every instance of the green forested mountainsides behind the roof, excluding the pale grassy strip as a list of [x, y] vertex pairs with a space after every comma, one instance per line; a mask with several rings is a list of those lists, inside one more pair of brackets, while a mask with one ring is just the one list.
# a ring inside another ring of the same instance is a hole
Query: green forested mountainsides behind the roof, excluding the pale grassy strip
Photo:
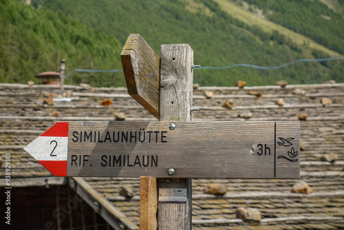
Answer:
[[[262, 8], [264, 12], [266, 1], [245, 2], [252, 5], [250, 10]], [[343, 15], [320, 1], [314, 1], [312, 8], [310, 0], [273, 2], [266, 10], [270, 21], [344, 53]], [[30, 6], [5, 0], [0, 7], [3, 83], [26, 83], [39, 72], [56, 71], [59, 59], [66, 59], [67, 74], [76, 68], [121, 69], [120, 51], [131, 33], [141, 34], [158, 55], [161, 44], [189, 43], [195, 64], [202, 67], [276, 66], [296, 59], [330, 57], [306, 42], [297, 45], [277, 30], [268, 33], [239, 21], [213, 0], [33, 0]], [[232, 86], [238, 80], [248, 85], [275, 85], [281, 79], [291, 84], [344, 82], [343, 64], [327, 61], [296, 63], [279, 70], [195, 70], [194, 82], [202, 86]], [[125, 86], [122, 73], [74, 72], [66, 83]]]

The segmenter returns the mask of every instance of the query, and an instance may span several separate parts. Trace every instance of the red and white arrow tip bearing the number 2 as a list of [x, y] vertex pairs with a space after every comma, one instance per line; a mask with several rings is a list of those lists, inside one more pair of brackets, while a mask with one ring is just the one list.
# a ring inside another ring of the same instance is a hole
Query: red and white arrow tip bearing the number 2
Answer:
[[68, 123], [58, 122], [24, 150], [54, 176], [67, 176]]

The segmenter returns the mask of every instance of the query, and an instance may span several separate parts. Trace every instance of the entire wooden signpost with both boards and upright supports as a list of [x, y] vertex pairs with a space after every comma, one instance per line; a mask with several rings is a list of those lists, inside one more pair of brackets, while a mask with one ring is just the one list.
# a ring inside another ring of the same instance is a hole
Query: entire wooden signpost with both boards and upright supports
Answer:
[[299, 122], [191, 122], [190, 45], [130, 34], [121, 58], [159, 121], [55, 123], [25, 147], [54, 176], [141, 177], [140, 229], [191, 229], [191, 178], [299, 178]]

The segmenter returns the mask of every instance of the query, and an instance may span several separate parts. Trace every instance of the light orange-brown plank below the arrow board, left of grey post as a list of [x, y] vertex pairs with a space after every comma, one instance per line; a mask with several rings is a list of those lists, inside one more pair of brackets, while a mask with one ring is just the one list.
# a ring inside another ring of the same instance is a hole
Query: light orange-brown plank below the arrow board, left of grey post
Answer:
[[156, 212], [158, 210], [156, 178], [140, 178], [140, 229], [157, 228]]

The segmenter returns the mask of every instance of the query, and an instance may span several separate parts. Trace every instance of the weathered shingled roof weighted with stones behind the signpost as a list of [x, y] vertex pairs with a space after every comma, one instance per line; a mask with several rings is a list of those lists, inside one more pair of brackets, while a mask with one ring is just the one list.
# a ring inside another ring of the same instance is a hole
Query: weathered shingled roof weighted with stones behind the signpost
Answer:
[[[34, 138], [56, 121], [114, 121], [124, 113], [127, 121], [156, 121], [127, 94], [125, 88], [65, 86], [72, 92], [67, 100], [44, 104], [56, 96], [52, 85], [0, 84], [0, 156], [11, 153], [13, 186], [58, 185], [65, 180], [49, 171], [23, 151]], [[252, 95], [252, 91], [262, 96]], [[213, 92], [211, 98], [205, 92]], [[321, 98], [332, 104], [322, 105]], [[103, 99], [112, 105], [100, 105]], [[235, 106], [222, 107], [229, 99]], [[276, 105], [278, 99], [284, 105]], [[194, 90], [194, 121], [301, 121], [301, 180], [312, 187], [310, 194], [295, 194], [298, 180], [193, 179], [193, 229], [344, 229], [344, 84], [288, 85], [264, 87], [200, 87]], [[250, 118], [240, 116], [250, 113]], [[336, 154], [336, 161], [323, 161], [324, 154]], [[4, 165], [0, 165], [4, 178]], [[94, 199], [111, 204], [113, 217], [129, 229], [139, 226], [140, 180], [138, 178], [77, 178]], [[3, 180], [1, 180], [3, 181]], [[3, 183], [3, 182], [2, 182]], [[225, 185], [223, 196], [204, 194], [209, 183]], [[1, 186], [3, 186], [0, 183]], [[120, 196], [123, 185], [132, 198]], [[106, 205], [105, 205], [106, 206]], [[260, 222], [244, 222], [235, 215], [238, 207], [261, 212]]]

